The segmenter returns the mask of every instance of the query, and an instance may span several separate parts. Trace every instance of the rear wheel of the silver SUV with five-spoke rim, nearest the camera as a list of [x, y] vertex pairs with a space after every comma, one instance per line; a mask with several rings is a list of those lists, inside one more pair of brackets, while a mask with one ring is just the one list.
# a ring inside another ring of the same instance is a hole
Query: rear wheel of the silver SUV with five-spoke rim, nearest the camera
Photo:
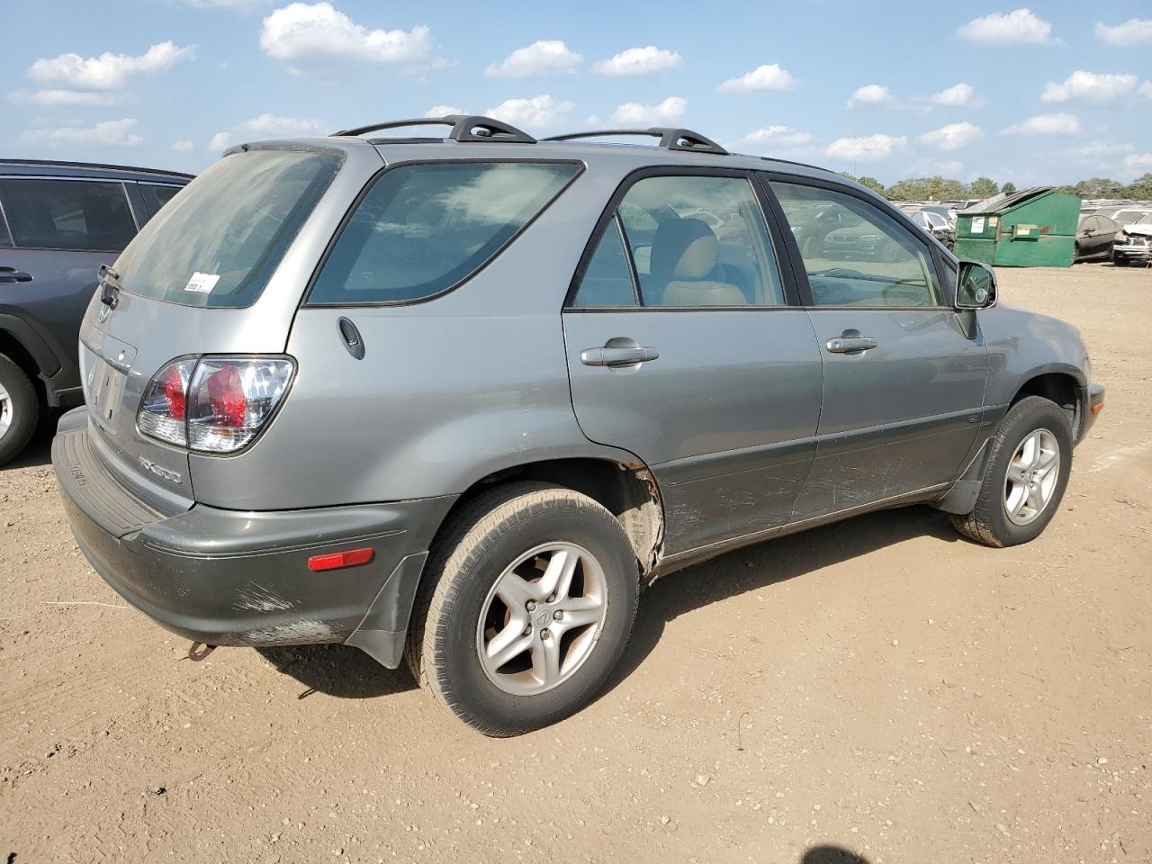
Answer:
[[485, 735], [520, 735], [591, 703], [636, 616], [639, 570], [620, 522], [543, 483], [484, 493], [441, 532], [412, 613], [417, 681]]

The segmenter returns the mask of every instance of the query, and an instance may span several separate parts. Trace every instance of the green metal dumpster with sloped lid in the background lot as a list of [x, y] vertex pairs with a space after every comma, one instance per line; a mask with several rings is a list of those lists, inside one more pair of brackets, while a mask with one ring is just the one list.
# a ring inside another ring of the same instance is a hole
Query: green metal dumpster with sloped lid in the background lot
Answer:
[[1081, 200], [1053, 187], [996, 195], [956, 218], [956, 256], [998, 267], [1070, 267]]

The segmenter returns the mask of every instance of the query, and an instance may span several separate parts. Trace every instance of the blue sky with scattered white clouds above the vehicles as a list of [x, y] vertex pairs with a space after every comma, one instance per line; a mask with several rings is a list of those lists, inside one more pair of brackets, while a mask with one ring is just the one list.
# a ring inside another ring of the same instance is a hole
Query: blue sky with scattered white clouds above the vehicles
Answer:
[[1152, 172], [1145, 2], [0, 0], [0, 157], [198, 172], [229, 143], [445, 106], [536, 134], [684, 126], [886, 183]]

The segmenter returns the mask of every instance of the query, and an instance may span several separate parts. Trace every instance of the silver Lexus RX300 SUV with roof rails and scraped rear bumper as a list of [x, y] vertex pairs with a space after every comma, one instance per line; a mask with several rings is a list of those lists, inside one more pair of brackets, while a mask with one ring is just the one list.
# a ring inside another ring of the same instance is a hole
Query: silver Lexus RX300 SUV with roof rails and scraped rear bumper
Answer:
[[514, 735], [596, 698], [673, 570], [916, 502], [1045, 529], [1104, 407], [1073, 327], [836, 174], [624, 134], [658, 144], [453, 115], [228, 150], [84, 320], [52, 461], [96, 570]]

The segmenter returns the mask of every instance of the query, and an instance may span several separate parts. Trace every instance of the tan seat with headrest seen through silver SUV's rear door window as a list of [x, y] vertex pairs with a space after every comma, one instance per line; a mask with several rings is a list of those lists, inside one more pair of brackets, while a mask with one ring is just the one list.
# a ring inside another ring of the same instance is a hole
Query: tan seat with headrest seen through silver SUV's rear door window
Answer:
[[717, 266], [719, 243], [703, 219], [668, 219], [652, 238], [652, 275], [664, 282], [662, 306], [746, 306], [730, 282], [707, 279]]

